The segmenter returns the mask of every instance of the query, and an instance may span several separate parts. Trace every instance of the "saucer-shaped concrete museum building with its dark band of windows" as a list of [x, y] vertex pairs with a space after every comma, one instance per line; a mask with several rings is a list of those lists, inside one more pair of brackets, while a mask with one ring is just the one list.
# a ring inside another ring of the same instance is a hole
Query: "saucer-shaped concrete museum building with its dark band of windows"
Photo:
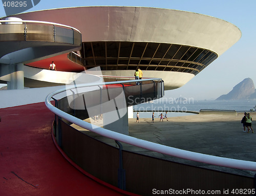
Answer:
[[159, 77], [165, 90], [180, 88], [241, 37], [225, 20], [146, 7], [74, 7], [17, 14], [77, 28], [87, 69], [103, 75]]

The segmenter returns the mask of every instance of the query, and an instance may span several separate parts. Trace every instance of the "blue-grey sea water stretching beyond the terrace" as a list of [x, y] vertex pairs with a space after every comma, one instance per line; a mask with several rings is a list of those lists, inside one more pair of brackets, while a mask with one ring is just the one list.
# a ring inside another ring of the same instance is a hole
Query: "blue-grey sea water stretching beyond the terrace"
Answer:
[[[247, 112], [256, 105], [256, 100], [231, 100], [231, 101], [217, 101], [217, 100], [204, 100], [204, 101], [195, 101], [190, 100], [163, 100], [154, 102], [141, 103], [133, 106], [134, 111], [139, 111], [140, 118], [151, 118], [152, 112], [146, 111], [155, 111], [155, 116], [161, 114], [161, 112], [156, 111], [175, 111], [168, 112], [168, 117], [176, 116], [187, 116], [194, 115], [191, 113], [186, 113], [187, 111], [199, 112], [200, 110], [236, 110], [237, 112]], [[181, 111], [181, 112], [178, 112]], [[134, 112], [133, 117], [136, 118], [137, 112]], [[163, 113], [164, 115], [164, 113]]]

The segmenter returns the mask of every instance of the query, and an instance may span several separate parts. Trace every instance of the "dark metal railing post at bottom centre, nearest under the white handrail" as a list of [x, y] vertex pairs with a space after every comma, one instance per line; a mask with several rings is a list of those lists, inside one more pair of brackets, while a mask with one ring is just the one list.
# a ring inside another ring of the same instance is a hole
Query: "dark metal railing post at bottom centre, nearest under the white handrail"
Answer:
[[122, 144], [115, 140], [116, 144], [119, 146], [119, 169], [118, 169], [118, 188], [125, 190], [126, 181], [125, 181], [125, 169], [123, 169], [123, 157], [122, 157]]

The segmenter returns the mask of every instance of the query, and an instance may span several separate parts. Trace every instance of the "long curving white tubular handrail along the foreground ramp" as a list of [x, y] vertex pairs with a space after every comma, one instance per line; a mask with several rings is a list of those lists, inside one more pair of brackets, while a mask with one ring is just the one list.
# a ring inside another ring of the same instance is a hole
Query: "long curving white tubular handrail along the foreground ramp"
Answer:
[[[152, 80], [158, 80], [158, 79], [159, 78], [154, 78]], [[143, 80], [148, 80], [148, 79], [128, 80], [127, 82], [131, 82], [131, 81], [136, 82], [136, 81], [143, 81]], [[131, 144], [131, 145], [141, 147], [141, 148], [144, 148], [144, 149], [156, 151], [157, 153], [162, 153], [162, 154], [165, 154], [165, 155], [174, 156], [174, 157], [187, 159], [187, 160], [191, 160], [191, 161], [197, 161], [197, 162], [201, 162], [201, 163], [207, 163], [207, 164], [218, 165], [218, 166], [223, 166], [223, 167], [230, 167], [230, 168], [236, 168], [236, 169], [245, 169], [245, 170], [256, 171], [256, 162], [230, 159], [230, 158], [224, 158], [224, 157], [217, 157], [217, 156], [205, 155], [205, 154], [201, 154], [201, 153], [195, 153], [195, 152], [192, 152], [192, 151], [182, 150], [182, 149], [178, 149], [178, 148], [165, 146], [165, 145], [162, 145], [162, 144], [158, 144], [158, 143], [154, 143], [154, 142], [134, 138], [134, 137], [131, 137], [131, 136], [119, 134], [119, 133], [113, 132], [112, 130], [108, 130], [108, 129], [105, 129], [105, 128], [98, 127], [96, 125], [85, 122], [81, 119], [78, 119], [78, 118], [76, 118], [72, 115], [69, 115], [69, 114], [59, 110], [58, 108], [54, 107], [50, 102], [51, 98], [54, 95], [65, 92], [67, 90], [71, 90], [73, 88], [82, 88], [82, 87], [96, 86], [96, 85], [117, 84], [117, 83], [124, 83], [124, 82], [126, 82], [126, 81], [94, 83], [94, 84], [89, 83], [89, 84], [79, 84], [77, 86], [74, 86], [74, 85], [73, 86], [67, 86], [67, 88], [65, 88], [65, 89], [60, 89], [60, 90], [57, 90], [57, 91], [52, 92], [51, 94], [49, 94], [46, 97], [45, 103], [46, 103], [47, 107], [49, 108], [49, 110], [51, 110], [54, 114], [56, 114], [56, 115], [58, 115], [62, 118], [65, 118], [65, 119], [69, 120], [70, 122], [72, 122], [72, 123], [74, 123], [78, 126], [86, 128], [86, 129], [90, 130], [91, 132], [97, 133], [97, 134], [99, 134], [101, 136], [104, 136], [104, 137], [111, 138], [113, 140], [117, 140], [117, 141], [120, 141], [120, 142]]]

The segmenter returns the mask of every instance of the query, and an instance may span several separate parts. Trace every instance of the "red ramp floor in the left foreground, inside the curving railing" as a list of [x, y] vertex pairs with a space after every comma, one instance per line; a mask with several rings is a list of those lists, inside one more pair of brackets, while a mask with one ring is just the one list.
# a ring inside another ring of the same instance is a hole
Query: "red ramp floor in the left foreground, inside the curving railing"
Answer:
[[51, 138], [45, 103], [0, 109], [0, 195], [124, 195], [84, 176]]

